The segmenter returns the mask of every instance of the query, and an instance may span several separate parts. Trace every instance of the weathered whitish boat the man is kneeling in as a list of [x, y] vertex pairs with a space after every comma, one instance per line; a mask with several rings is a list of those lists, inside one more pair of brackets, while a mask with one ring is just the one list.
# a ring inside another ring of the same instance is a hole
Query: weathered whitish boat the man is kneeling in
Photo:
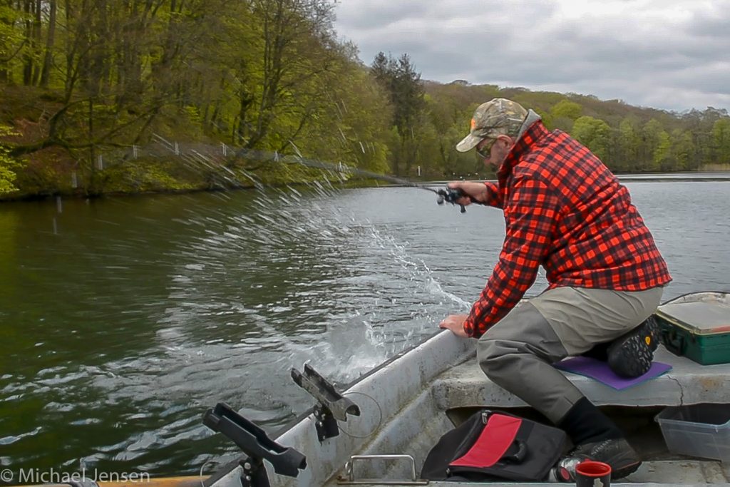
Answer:
[[[591, 402], [617, 421], [632, 445], [642, 453], [644, 464], [627, 482], [662, 486], [730, 485], [730, 465], [670, 452], [654, 421], [667, 406], [730, 404], [730, 365], [704, 366], [661, 346], [655, 359], [672, 365], [672, 369], [621, 391], [589, 377], [565, 374]], [[323, 442], [318, 439], [313, 415], [300, 418], [278, 434], [276, 441], [280, 445], [296, 448], [307, 456], [307, 469], [297, 478], [286, 478], [269, 468], [272, 486], [334, 486], [343, 481], [347, 484], [353, 478], [357, 485], [388, 482], [409, 485], [414, 480], [409, 461], [380, 457], [358, 461], [351, 469], [346, 465], [353, 455], [408, 455], [413, 459], [415, 471], [420, 472], [426, 454], [439, 437], [477, 408], [505, 410], [525, 417], [535, 413], [517, 396], [485, 377], [476, 360], [476, 340], [458, 338], [450, 331], [435, 334], [399, 354], [348, 387], [342, 395], [358, 404], [361, 416], [339, 423], [340, 434]], [[207, 485], [240, 487], [241, 474], [241, 467], [232, 466]], [[462, 484], [431, 482], [429, 485]]]

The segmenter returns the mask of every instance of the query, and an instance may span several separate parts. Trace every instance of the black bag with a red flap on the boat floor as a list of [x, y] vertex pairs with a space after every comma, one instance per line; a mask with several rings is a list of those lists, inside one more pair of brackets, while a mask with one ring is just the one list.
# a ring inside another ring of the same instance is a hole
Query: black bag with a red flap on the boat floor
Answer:
[[566, 445], [554, 426], [481, 410], [444, 434], [421, 469], [427, 480], [539, 481], [548, 477]]

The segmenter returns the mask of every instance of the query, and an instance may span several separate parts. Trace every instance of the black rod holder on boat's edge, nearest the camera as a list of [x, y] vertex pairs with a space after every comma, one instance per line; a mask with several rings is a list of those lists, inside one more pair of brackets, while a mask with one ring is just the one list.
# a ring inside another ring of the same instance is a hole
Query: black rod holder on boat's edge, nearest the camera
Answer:
[[300, 469], [307, 468], [307, 457], [293, 448], [286, 448], [266, 435], [263, 429], [232, 410], [228, 404], [219, 402], [207, 410], [203, 424], [233, 440], [245, 459], [239, 461], [243, 467], [242, 487], [269, 487], [269, 475], [264, 460], [274, 467], [274, 472], [287, 477], [296, 477]]

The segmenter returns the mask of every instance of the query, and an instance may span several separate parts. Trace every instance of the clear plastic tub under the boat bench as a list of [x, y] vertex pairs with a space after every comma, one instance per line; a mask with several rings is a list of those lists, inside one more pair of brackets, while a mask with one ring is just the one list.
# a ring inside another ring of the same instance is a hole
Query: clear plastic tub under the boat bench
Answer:
[[669, 451], [730, 463], [730, 404], [666, 407], [655, 419]]

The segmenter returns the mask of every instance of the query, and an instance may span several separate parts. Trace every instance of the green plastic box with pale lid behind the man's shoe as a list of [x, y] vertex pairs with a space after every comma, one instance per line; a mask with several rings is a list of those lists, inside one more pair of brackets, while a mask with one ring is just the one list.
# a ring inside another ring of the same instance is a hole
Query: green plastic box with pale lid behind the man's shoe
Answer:
[[691, 293], [656, 310], [661, 342], [702, 365], [730, 364], [730, 295]]

